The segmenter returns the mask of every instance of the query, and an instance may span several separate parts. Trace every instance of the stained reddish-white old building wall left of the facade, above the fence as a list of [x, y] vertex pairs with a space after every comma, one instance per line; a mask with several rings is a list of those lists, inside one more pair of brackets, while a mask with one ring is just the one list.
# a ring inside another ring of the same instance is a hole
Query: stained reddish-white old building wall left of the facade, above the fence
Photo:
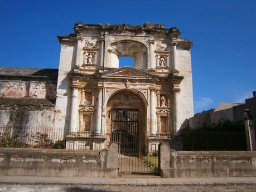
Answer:
[[0, 67], [0, 126], [54, 126], [57, 72]]

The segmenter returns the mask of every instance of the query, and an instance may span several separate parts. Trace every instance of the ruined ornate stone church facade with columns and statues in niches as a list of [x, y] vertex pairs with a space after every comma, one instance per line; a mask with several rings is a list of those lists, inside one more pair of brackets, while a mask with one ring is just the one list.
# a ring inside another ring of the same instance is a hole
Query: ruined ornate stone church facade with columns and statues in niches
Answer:
[[[54, 126], [68, 130], [66, 148], [79, 149], [95, 136], [107, 145], [106, 134], [129, 129], [139, 151], [156, 149], [159, 138], [171, 143], [194, 115], [192, 42], [179, 29], [155, 23], [76, 23], [74, 31], [58, 36]], [[122, 56], [133, 57], [134, 67], [119, 67]]]

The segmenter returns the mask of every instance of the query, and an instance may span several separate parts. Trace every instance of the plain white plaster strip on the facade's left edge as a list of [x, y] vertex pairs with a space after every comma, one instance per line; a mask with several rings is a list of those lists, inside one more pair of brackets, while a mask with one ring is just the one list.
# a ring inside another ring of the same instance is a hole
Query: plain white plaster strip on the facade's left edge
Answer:
[[[67, 77], [71, 68], [75, 65], [75, 45], [61, 45], [59, 76], [57, 82], [56, 117], [55, 127], [69, 127], [70, 110], [70, 80]], [[68, 97], [69, 96], [69, 97]]]

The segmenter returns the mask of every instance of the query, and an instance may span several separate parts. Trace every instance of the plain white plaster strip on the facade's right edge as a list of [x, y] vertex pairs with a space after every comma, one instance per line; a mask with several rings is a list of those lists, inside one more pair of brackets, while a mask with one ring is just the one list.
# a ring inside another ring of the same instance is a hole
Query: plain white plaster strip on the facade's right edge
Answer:
[[[178, 93], [178, 131], [185, 126], [186, 119], [194, 116], [193, 91], [192, 91], [192, 71], [191, 55], [189, 50], [177, 50], [177, 70], [184, 79], [180, 83], [181, 91]], [[182, 125], [183, 124], [183, 125]]]

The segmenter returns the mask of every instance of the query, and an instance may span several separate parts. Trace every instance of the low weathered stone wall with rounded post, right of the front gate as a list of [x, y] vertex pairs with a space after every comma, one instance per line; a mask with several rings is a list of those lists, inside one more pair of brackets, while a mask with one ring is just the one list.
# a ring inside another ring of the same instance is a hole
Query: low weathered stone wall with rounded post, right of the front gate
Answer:
[[175, 151], [160, 144], [163, 178], [256, 176], [256, 151]]

